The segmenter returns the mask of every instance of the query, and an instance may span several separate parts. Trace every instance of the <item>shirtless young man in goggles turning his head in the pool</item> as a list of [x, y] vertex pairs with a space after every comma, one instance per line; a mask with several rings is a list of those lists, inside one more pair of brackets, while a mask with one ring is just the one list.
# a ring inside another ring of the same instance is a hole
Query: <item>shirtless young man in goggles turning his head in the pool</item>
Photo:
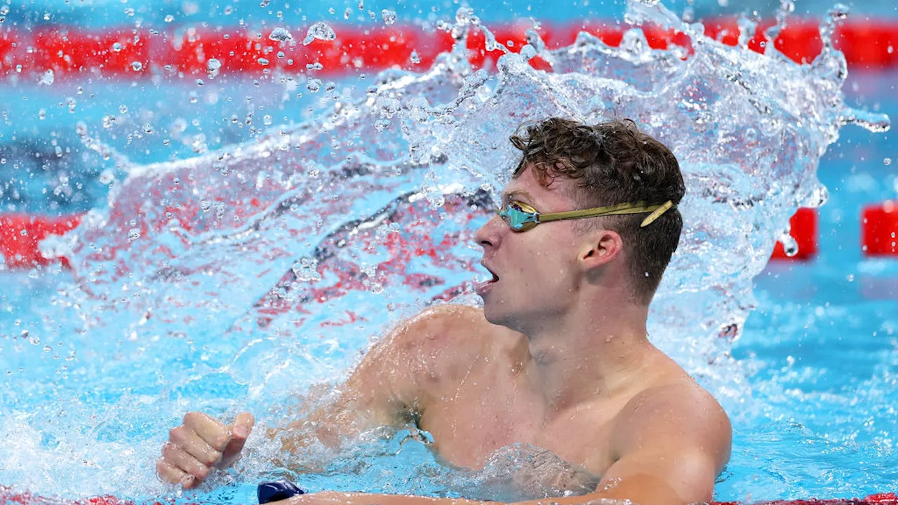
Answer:
[[[527, 444], [595, 476], [587, 488], [583, 479], [560, 483], [579, 495], [552, 502], [710, 501], [729, 459], [726, 413], [646, 331], [682, 229], [676, 158], [632, 121], [550, 119], [511, 140], [522, 159], [502, 208], [477, 233], [492, 274], [479, 288], [483, 309], [437, 306], [402, 324], [365, 356], [338, 402], [295, 423], [306, 433], [295, 443], [337, 446], [413, 420], [453, 465], [478, 469], [503, 447]], [[249, 413], [230, 427], [189, 413], [163, 447], [159, 475], [197, 485], [239, 455], [252, 423]], [[451, 502], [338, 492], [291, 501]]]

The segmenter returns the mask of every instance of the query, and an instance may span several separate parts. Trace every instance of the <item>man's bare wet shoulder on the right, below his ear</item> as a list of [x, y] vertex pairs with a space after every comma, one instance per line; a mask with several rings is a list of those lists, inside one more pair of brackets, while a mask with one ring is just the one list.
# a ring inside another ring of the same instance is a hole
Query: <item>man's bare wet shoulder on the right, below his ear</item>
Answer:
[[719, 472], [729, 460], [732, 427], [714, 396], [681, 369], [624, 406], [615, 422], [614, 444], [619, 457], [647, 445], [668, 453], [700, 451]]

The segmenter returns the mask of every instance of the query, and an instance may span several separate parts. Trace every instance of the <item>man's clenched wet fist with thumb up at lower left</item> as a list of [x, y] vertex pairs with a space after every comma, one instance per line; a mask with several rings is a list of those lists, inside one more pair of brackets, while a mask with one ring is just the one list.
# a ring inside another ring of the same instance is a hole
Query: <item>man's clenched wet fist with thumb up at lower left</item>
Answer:
[[233, 426], [202, 412], [188, 412], [184, 424], [169, 431], [163, 456], [156, 460], [156, 473], [166, 483], [197, 487], [213, 468], [231, 465], [240, 456], [254, 423], [249, 412], [238, 415]]

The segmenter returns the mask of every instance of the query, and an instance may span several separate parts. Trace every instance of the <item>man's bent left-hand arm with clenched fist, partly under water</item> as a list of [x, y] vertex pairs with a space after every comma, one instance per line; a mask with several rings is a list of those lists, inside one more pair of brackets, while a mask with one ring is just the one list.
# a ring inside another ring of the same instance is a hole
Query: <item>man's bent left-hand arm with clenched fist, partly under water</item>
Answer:
[[[402, 426], [408, 421], [403, 414], [423, 409], [427, 391], [440, 383], [443, 364], [436, 348], [445, 345], [454, 327], [473, 317], [471, 311], [476, 309], [439, 306], [402, 323], [365, 355], [340, 386], [336, 401], [322, 403], [303, 420], [269, 435], [284, 432], [284, 449], [295, 452], [315, 440], [334, 448], [376, 426]], [[215, 468], [237, 459], [253, 423], [249, 412], [237, 416], [232, 426], [202, 412], [189, 412], [169, 432], [156, 461], [157, 474], [186, 489], [198, 486]]]

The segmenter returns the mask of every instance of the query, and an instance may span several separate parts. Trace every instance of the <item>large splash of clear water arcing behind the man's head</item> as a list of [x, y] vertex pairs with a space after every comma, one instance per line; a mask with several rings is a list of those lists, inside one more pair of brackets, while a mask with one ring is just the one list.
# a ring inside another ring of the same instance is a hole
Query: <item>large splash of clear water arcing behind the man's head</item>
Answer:
[[[17, 442], [0, 448], [0, 466], [25, 470], [0, 475], [45, 494], [161, 492], [147, 484], [152, 461], [180, 412], [227, 415], [239, 398], [264, 415], [339, 378], [401, 316], [470, 299], [472, 233], [515, 156], [506, 138], [548, 116], [632, 118], [677, 155], [686, 226], [652, 337], [725, 404], [747, 393], [727, 351], [753, 277], [795, 208], [821, 203], [815, 171], [839, 129], [889, 125], [843, 102], [845, 60], [831, 42], [840, 17], [823, 24], [821, 56], [800, 66], [772, 44], [763, 55], [727, 47], [656, 2], [633, 2], [627, 20], [687, 33], [688, 58], [649, 49], [638, 29], [619, 48], [581, 33], [554, 50], [533, 31], [489, 74], [465, 58], [467, 33], [502, 46], [462, 10], [445, 27], [456, 49], [427, 72], [384, 72], [364, 97], [250, 144], [145, 166], [119, 156], [128, 178], [109, 207], [53, 248], [75, 285], [48, 320], [71, 332], [77, 355], [62, 382], [35, 380], [27, 401], [9, 404], [0, 435]], [[319, 31], [306, 40], [330, 37]], [[554, 71], [534, 70], [535, 56]], [[79, 132], [117, 156], [87, 125]]]

